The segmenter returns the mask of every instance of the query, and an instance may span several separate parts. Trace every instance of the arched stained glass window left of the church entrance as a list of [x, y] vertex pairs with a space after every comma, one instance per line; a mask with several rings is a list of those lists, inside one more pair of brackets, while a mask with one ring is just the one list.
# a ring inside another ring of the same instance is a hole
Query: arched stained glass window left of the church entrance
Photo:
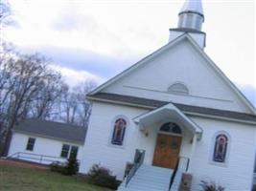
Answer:
[[116, 119], [114, 123], [114, 131], [111, 139], [111, 143], [115, 145], [123, 145], [127, 128], [127, 121], [124, 118]]

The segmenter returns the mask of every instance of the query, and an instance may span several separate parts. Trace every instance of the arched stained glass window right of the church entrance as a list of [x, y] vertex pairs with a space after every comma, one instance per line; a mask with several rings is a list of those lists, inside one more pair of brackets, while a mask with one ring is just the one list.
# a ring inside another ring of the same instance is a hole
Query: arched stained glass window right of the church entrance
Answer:
[[217, 162], [225, 162], [228, 146], [228, 138], [224, 134], [220, 134], [215, 138], [213, 160]]

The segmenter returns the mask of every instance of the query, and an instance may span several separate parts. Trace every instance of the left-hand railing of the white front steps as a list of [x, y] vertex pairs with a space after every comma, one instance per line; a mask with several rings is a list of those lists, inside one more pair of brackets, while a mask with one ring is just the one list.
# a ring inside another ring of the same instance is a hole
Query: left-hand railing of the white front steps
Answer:
[[138, 168], [143, 163], [144, 157], [145, 157], [145, 150], [136, 149], [133, 166], [129, 170], [128, 176], [126, 178], [126, 187], [128, 186], [129, 180], [131, 180], [131, 178], [135, 175]]

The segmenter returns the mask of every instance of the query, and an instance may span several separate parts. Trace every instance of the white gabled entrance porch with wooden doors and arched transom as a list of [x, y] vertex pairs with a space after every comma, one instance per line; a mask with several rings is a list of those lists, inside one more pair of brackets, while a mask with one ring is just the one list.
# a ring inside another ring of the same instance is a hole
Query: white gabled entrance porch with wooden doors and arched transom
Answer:
[[202, 135], [198, 124], [172, 103], [135, 117], [133, 121], [142, 135], [138, 149], [146, 151], [145, 164], [169, 169], [178, 165], [190, 171], [189, 164]]

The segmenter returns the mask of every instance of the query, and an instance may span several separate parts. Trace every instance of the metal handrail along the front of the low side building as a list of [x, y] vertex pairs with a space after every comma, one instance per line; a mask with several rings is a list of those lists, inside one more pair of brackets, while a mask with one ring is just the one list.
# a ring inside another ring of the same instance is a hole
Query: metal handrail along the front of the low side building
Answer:
[[[35, 158], [35, 157], [38, 157], [38, 158]], [[63, 160], [62, 158], [58, 158], [58, 157], [39, 155], [34, 153], [25, 153], [25, 152], [16, 152], [11, 156], [8, 156], [7, 159], [35, 159], [35, 160], [38, 160], [37, 163], [42, 163], [43, 161], [55, 162], [57, 160]]]

